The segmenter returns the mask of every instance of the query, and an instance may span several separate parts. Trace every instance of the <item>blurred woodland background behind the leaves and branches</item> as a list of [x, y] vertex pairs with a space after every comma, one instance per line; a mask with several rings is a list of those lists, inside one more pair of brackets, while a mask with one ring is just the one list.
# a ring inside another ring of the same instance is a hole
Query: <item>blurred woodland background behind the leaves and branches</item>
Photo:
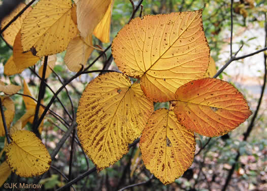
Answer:
[[[139, 1], [133, 1], [138, 5]], [[27, 3], [27, 1], [26, 1]], [[217, 68], [221, 68], [230, 59], [229, 43], [230, 43], [230, 1], [221, 0], [144, 0], [142, 15], [148, 14], [165, 14], [179, 11], [192, 11], [204, 9], [203, 21], [204, 30], [208, 39], [211, 56], [216, 61]], [[250, 53], [257, 49], [263, 48], [264, 42], [264, 14], [267, 12], [267, 2], [265, 0], [240, 0], [233, 1], [233, 53], [244, 44], [240, 56], [244, 53]], [[128, 22], [132, 13], [132, 6], [129, 1], [115, 0], [112, 22], [111, 22], [111, 41], [118, 31]], [[140, 10], [137, 12], [137, 16]], [[244, 35], [245, 34], [245, 35]], [[247, 35], [248, 34], [248, 35]], [[105, 49], [109, 43], [102, 43], [94, 38], [94, 44]], [[5, 76], [4, 65], [11, 56], [12, 50], [0, 40], [0, 77], [6, 83], [22, 86], [23, 79], [29, 85], [29, 88], [37, 98], [40, 81], [34, 73], [26, 69], [22, 74]], [[65, 52], [57, 54], [57, 63], [54, 71], [60, 76], [64, 82], [66, 79], [74, 75], [63, 63]], [[107, 58], [110, 56], [111, 50], [107, 51]], [[99, 55], [98, 50], [94, 50], [88, 63], [91, 63]], [[235, 85], [247, 98], [252, 111], [255, 111], [260, 88], [263, 83], [263, 53], [246, 59], [232, 63], [233, 67], [225, 70], [219, 77], [230, 81]], [[94, 69], [102, 69], [105, 58], [99, 59], [92, 67]], [[32, 69], [38, 71], [41, 64], [37, 64]], [[116, 65], [112, 62], [110, 69], [116, 69]], [[84, 74], [80, 78], [74, 80], [68, 90], [72, 97], [74, 109], [77, 111], [78, 102], [82, 91], [90, 80], [96, 77], [95, 74]], [[60, 86], [60, 82], [55, 74], [51, 74], [47, 79], [47, 83], [56, 91]], [[22, 90], [21, 90], [22, 91]], [[227, 177], [227, 173], [231, 165], [235, 163], [237, 151], [240, 152], [240, 159], [237, 163], [235, 172], [227, 187], [227, 190], [267, 190], [267, 93], [265, 91], [263, 102], [260, 107], [257, 119], [254, 123], [253, 131], [247, 142], [243, 140], [243, 133], [251, 120], [249, 118], [239, 128], [222, 137], [213, 138], [207, 147], [199, 153], [193, 162], [191, 168], [186, 171], [183, 177], [177, 179], [175, 183], [164, 186], [157, 179], [152, 179], [146, 184], [129, 188], [128, 190], [221, 190]], [[53, 93], [47, 89], [45, 94], [45, 104], [52, 98]], [[59, 94], [59, 98], [63, 100], [65, 107], [71, 111], [71, 103], [66, 91]], [[14, 95], [12, 99], [16, 104], [15, 120], [19, 119], [25, 113], [25, 105], [22, 96]], [[155, 103], [155, 110], [160, 107], [168, 107], [169, 103]], [[62, 110], [61, 105], [56, 100], [51, 110], [68, 120], [68, 116]], [[31, 125], [28, 124], [28, 129]], [[42, 132], [42, 138], [49, 151], [53, 150], [56, 143], [61, 139], [66, 127], [59, 123], [53, 116], [47, 115], [45, 125]], [[207, 143], [208, 138], [196, 134], [197, 148], [201, 148]], [[43, 178], [42, 183], [45, 185], [43, 189], [55, 190], [64, 185], [66, 182], [62, 178], [62, 174], [69, 173], [70, 160], [70, 144], [71, 138], [61, 148], [61, 151], [53, 161], [52, 167]], [[4, 138], [0, 138], [0, 150], [4, 147]], [[4, 161], [4, 156], [0, 159]], [[75, 144], [75, 154], [73, 160], [72, 178], [91, 169], [93, 163], [83, 153], [78, 141]], [[60, 171], [60, 173], [58, 172]], [[107, 168], [100, 173], [94, 172], [86, 178], [74, 184], [77, 190], [118, 190], [129, 184], [146, 181], [150, 177], [150, 172], [145, 169], [141, 153], [136, 147], [132, 147], [129, 153], [119, 160], [115, 165]], [[12, 182], [31, 181], [15, 176], [10, 177]], [[3, 188], [4, 189], [4, 188]], [[73, 189], [73, 188], [71, 188]]]

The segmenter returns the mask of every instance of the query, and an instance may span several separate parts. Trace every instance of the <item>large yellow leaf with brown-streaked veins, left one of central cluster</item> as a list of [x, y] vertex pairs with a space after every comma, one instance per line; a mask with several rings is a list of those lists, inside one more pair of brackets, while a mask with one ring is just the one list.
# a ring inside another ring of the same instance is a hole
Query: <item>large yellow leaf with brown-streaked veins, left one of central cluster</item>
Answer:
[[87, 85], [77, 111], [78, 138], [98, 171], [118, 161], [139, 137], [153, 102], [121, 73], [107, 73]]

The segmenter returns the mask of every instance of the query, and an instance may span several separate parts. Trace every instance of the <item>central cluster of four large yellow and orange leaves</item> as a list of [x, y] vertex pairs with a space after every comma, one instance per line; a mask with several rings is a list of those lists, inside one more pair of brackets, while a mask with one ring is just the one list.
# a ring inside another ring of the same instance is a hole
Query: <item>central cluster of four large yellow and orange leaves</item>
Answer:
[[[201, 13], [136, 18], [113, 40], [112, 54], [124, 74], [92, 80], [77, 113], [78, 137], [98, 171], [120, 159], [142, 133], [145, 166], [162, 183], [171, 183], [193, 161], [192, 131], [223, 135], [251, 115], [236, 88], [203, 78], [210, 55]], [[139, 80], [131, 84], [127, 76]], [[152, 114], [152, 101], [172, 106]]]

